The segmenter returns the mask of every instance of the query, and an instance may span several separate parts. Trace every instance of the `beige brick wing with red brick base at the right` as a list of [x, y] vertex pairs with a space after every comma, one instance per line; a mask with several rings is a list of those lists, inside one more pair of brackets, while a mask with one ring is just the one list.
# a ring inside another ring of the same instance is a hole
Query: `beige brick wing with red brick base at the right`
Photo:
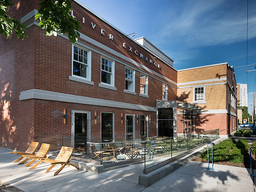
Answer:
[[[201, 107], [194, 119], [177, 118], [177, 132], [220, 129], [220, 135], [236, 131], [236, 79], [228, 63], [178, 70], [177, 100]], [[179, 116], [179, 112], [178, 112]]]

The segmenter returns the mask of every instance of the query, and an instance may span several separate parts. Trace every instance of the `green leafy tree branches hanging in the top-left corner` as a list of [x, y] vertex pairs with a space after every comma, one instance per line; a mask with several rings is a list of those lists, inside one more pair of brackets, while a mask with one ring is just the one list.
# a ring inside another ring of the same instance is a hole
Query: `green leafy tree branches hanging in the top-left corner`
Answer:
[[[41, 0], [35, 19], [39, 19], [39, 25], [46, 30], [47, 36], [57, 36], [57, 31], [61, 34], [68, 33], [71, 43], [75, 43], [80, 36], [81, 28], [78, 20], [69, 15], [72, 5], [71, 0]], [[11, 6], [12, 0], [0, 0], [0, 34], [8, 38], [12, 31], [23, 40], [26, 35], [27, 27], [18, 20], [9, 17], [7, 7]]]

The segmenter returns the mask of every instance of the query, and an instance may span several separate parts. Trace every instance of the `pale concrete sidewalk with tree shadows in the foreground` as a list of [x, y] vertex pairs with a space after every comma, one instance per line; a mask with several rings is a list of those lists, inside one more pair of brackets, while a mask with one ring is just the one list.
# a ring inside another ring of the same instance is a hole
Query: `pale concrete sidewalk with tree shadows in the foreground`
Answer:
[[[49, 164], [43, 163], [34, 170], [12, 163], [19, 156], [0, 148], [0, 180], [24, 192], [253, 192], [249, 169], [214, 164], [215, 170], [206, 170], [207, 163], [190, 161], [149, 187], [138, 184], [144, 164], [103, 172], [100, 174], [64, 168], [57, 176], [44, 173]], [[11, 189], [11, 188], [10, 188]], [[9, 192], [8, 189], [2, 189]], [[1, 189], [0, 189], [1, 191]]]

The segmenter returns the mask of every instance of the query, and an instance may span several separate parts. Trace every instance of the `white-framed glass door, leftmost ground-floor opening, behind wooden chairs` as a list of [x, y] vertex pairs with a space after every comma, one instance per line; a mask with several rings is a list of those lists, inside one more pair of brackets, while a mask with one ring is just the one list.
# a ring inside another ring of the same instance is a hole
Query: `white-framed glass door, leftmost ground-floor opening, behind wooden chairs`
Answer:
[[89, 112], [72, 112], [72, 147], [78, 153], [87, 154]]

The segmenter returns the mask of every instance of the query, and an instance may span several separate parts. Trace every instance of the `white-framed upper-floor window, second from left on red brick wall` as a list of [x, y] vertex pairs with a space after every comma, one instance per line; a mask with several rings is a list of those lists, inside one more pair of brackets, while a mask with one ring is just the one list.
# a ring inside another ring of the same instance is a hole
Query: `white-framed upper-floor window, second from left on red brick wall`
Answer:
[[100, 82], [103, 84], [115, 86], [114, 73], [115, 61], [101, 57], [101, 75]]

